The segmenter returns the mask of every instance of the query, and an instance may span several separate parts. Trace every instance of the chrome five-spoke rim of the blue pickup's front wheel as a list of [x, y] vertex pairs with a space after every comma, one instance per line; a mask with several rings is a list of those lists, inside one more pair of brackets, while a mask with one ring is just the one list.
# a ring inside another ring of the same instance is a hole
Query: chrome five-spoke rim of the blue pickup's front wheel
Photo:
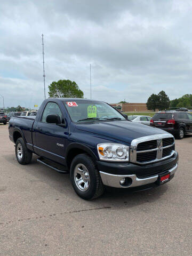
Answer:
[[77, 188], [86, 191], [90, 186], [90, 175], [84, 164], [77, 164], [74, 170], [74, 180]]

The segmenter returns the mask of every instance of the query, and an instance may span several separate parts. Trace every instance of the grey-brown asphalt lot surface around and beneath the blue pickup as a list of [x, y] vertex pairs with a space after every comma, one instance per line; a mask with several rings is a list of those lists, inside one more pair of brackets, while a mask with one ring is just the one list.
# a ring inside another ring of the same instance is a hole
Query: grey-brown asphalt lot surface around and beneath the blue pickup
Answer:
[[191, 255], [192, 134], [176, 140], [179, 169], [138, 193], [79, 198], [68, 174], [20, 165], [0, 124], [0, 255]]

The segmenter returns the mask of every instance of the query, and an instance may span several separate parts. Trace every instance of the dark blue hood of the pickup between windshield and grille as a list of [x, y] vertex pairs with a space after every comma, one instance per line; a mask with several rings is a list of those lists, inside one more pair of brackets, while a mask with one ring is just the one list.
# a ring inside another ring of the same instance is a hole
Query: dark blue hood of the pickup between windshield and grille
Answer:
[[161, 129], [130, 121], [97, 122], [90, 124], [77, 124], [78, 130], [92, 132], [106, 137], [131, 143], [133, 139], [167, 133]]

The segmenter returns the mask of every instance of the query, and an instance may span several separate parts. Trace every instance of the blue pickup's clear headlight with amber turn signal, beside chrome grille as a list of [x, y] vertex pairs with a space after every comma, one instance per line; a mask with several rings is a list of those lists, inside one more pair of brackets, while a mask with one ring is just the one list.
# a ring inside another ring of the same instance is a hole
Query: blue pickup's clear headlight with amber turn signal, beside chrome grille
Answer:
[[100, 143], [97, 148], [99, 159], [102, 161], [129, 162], [129, 146], [118, 143]]

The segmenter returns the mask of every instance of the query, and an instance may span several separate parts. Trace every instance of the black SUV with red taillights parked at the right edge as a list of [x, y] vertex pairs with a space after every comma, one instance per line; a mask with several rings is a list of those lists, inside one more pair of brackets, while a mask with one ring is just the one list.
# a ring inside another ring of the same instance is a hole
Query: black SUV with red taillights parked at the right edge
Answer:
[[166, 111], [156, 113], [150, 120], [150, 126], [172, 133], [183, 139], [186, 133], [192, 133], [192, 115], [186, 111]]

